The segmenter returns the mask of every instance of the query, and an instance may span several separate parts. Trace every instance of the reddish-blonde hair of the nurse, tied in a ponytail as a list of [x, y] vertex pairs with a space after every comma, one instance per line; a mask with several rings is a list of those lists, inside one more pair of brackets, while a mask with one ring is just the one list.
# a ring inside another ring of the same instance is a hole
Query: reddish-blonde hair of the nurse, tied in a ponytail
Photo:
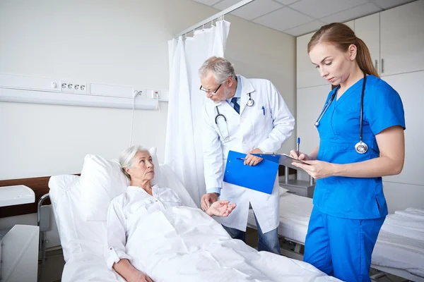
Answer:
[[354, 44], [356, 46], [356, 63], [359, 68], [364, 71], [367, 75], [375, 75], [379, 78], [365, 42], [362, 39], [356, 37], [355, 32], [351, 30], [351, 27], [343, 23], [330, 23], [329, 25], [323, 25], [317, 32], [312, 35], [310, 42], [307, 44], [307, 53], [309, 54], [315, 45], [326, 42], [334, 44], [341, 51], [348, 51], [349, 46]]

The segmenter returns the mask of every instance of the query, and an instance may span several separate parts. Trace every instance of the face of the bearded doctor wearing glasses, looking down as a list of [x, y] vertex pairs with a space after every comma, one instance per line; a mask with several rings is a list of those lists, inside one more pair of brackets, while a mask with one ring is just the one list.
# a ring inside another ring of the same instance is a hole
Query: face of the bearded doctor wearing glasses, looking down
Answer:
[[[206, 90], [206, 98], [218, 103], [230, 97], [232, 78], [227, 78], [223, 84], [219, 85], [215, 80], [215, 75], [210, 71], [200, 79], [201, 87]], [[219, 88], [218, 88], [219, 87]]]

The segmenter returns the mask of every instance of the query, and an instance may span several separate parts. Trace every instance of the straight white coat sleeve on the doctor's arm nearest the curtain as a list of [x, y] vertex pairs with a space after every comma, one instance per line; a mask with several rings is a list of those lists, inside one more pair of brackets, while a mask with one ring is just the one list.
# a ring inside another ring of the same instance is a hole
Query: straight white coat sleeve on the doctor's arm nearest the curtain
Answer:
[[[204, 173], [206, 191], [223, 187], [223, 149], [219, 135], [211, 123], [206, 106], [203, 109], [202, 121], [202, 147], [204, 153]], [[213, 191], [215, 192], [215, 190]], [[219, 193], [218, 193], [219, 194]]]

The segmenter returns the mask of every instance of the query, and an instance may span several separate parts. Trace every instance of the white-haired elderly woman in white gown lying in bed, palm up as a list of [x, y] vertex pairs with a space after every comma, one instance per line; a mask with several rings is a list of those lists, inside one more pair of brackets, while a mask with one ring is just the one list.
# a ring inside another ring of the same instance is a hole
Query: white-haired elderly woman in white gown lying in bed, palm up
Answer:
[[[124, 194], [112, 200], [107, 213], [107, 266], [117, 271], [126, 281], [152, 281], [147, 274], [130, 263], [127, 240], [149, 215], [181, 206], [182, 203], [172, 189], [151, 185], [155, 167], [146, 149], [139, 146], [129, 147], [119, 157], [119, 164], [124, 175], [129, 178], [130, 185]], [[206, 214], [228, 216], [235, 206], [221, 200], [214, 202], [206, 210]], [[148, 233], [149, 230], [143, 232]]]

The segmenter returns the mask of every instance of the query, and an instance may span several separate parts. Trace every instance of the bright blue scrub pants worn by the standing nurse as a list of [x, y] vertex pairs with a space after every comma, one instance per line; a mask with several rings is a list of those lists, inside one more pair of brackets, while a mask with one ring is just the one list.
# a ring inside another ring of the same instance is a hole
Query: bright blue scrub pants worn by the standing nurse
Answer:
[[343, 219], [314, 207], [303, 260], [343, 281], [371, 281], [371, 255], [386, 216]]

